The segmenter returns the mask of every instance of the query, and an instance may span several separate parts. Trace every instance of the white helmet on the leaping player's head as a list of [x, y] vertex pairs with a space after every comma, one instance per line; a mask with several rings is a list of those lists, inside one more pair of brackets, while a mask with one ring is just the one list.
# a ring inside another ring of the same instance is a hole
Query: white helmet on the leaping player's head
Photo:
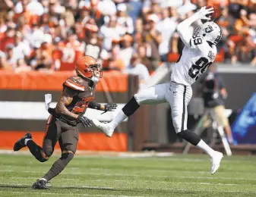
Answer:
[[216, 23], [206, 22], [194, 30], [193, 36], [203, 36], [207, 41], [216, 45], [220, 42], [222, 31]]

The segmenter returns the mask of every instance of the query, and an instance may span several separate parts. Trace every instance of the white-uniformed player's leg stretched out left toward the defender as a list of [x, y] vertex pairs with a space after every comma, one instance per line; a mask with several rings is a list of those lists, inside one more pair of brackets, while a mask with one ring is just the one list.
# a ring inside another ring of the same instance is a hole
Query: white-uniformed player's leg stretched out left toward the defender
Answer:
[[169, 83], [163, 83], [156, 86], [150, 86], [146, 89], [141, 89], [137, 92], [131, 100], [122, 108], [121, 111], [114, 117], [109, 124], [100, 123], [98, 120], [93, 120], [93, 124], [106, 136], [112, 136], [112, 133], [119, 124], [122, 123], [127, 117], [134, 114], [141, 105], [152, 105], [166, 102], [166, 91], [169, 87]]

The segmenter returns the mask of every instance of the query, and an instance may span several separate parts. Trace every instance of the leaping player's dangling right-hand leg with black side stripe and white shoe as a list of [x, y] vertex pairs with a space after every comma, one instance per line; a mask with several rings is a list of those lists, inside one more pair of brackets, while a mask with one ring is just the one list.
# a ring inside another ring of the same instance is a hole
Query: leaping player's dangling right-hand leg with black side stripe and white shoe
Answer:
[[172, 108], [172, 122], [175, 127], [175, 132], [179, 137], [190, 142], [192, 145], [203, 150], [212, 159], [211, 174], [214, 174], [220, 166], [223, 154], [214, 151], [207, 145], [198, 134], [191, 132], [187, 128], [188, 122], [188, 103], [192, 96], [191, 86], [183, 86], [180, 84], [172, 83], [172, 90], [169, 91], [169, 102]]

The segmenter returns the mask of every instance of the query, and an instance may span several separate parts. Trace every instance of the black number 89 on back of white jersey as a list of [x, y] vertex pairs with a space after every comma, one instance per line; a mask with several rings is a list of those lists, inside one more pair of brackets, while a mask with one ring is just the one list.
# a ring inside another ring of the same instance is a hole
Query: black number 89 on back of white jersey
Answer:
[[189, 77], [191, 77], [193, 80], [198, 80], [198, 77], [201, 75], [201, 73], [204, 73], [208, 67], [210, 67], [210, 64], [213, 64], [213, 62], [204, 57], [200, 58], [188, 70]]

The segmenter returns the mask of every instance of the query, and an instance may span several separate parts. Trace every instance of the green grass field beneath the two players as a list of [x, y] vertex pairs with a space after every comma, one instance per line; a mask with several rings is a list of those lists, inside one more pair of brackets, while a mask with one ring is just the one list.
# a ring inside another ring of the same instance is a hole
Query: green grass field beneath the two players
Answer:
[[256, 196], [256, 157], [224, 157], [210, 175], [206, 155], [168, 158], [75, 157], [51, 189], [33, 190], [57, 157], [0, 155], [0, 196]]

